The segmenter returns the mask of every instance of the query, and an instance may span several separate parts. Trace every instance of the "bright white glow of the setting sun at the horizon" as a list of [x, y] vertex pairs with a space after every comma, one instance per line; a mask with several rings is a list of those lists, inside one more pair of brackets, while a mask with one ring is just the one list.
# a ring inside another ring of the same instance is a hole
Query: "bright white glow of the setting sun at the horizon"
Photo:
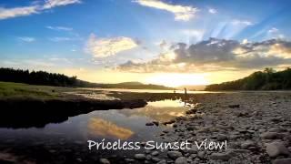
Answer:
[[207, 81], [204, 74], [178, 74], [178, 73], [163, 73], [156, 74], [152, 77], [146, 78], [146, 83], [157, 84], [167, 87], [179, 87], [187, 85], [207, 85]]

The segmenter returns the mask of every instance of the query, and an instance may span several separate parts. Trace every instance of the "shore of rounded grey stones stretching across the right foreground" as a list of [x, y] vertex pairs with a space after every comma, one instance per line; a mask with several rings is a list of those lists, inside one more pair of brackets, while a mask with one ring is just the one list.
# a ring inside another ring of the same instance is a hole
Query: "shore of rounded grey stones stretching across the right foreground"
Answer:
[[[291, 163], [291, 93], [241, 92], [201, 94], [186, 117], [172, 121], [160, 135], [166, 142], [227, 141], [227, 149], [193, 144], [184, 150], [146, 150], [137, 163]], [[104, 162], [103, 162], [104, 163]]]

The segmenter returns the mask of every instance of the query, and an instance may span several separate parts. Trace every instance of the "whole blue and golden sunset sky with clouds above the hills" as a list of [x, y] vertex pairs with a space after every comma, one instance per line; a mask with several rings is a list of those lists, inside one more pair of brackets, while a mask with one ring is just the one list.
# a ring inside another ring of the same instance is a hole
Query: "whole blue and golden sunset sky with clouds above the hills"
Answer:
[[169, 87], [291, 66], [291, 1], [1, 0], [0, 67]]

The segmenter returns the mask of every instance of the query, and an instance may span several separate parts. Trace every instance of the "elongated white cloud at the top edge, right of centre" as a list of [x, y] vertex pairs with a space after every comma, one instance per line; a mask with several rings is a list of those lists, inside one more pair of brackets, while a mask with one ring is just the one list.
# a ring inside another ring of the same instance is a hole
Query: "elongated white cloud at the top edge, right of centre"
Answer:
[[175, 15], [175, 20], [188, 21], [196, 15], [197, 8], [186, 5], [171, 5], [160, 0], [135, 0], [135, 3], [152, 7], [160, 10], [166, 10]]

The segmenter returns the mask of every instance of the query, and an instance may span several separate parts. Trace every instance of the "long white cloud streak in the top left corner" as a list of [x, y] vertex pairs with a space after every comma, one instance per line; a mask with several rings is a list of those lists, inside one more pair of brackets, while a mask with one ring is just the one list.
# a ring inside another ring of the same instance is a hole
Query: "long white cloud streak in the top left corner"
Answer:
[[[50, 9], [61, 5], [80, 4], [81, 0], [45, 0], [43, 5], [28, 5], [13, 8], [0, 7], [0, 20], [18, 16], [33, 15], [41, 13], [46, 9]], [[34, 3], [33, 3], [34, 4]]]

